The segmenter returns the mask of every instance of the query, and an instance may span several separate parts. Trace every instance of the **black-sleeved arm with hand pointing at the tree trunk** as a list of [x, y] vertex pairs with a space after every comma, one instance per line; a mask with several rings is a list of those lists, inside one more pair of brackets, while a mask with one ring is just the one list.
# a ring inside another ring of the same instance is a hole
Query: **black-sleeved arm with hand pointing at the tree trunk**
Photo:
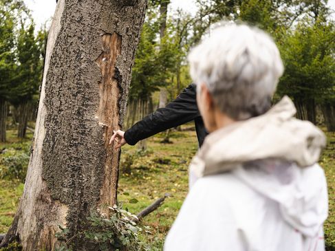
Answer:
[[134, 124], [127, 131], [114, 131], [109, 144], [118, 138], [118, 142], [114, 148], [120, 148], [124, 144], [130, 144], [133, 146], [140, 140], [149, 138], [156, 133], [160, 133], [166, 129], [177, 127], [181, 124], [194, 120], [197, 140], [199, 142], [199, 146], [202, 146], [202, 143], [208, 133], [206, 132], [204, 122], [202, 121], [202, 117], [197, 109], [196, 96], [196, 85], [188, 85], [188, 87], [186, 87], [175, 100], [169, 102], [166, 107], [157, 109], [147, 117]]

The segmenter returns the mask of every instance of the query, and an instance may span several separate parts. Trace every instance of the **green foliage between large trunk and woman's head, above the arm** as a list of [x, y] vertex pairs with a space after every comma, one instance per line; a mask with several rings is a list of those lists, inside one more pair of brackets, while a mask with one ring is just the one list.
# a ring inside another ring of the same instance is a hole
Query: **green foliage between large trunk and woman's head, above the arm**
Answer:
[[183, 70], [183, 67], [186, 65], [186, 54], [192, 45], [192, 18], [182, 11], [168, 16], [164, 36], [160, 37], [160, 5], [163, 2], [169, 4], [165, 0], [149, 1], [147, 18], [132, 69], [130, 100], [147, 101], [160, 87], [166, 87], [171, 100], [191, 82], [188, 71]]

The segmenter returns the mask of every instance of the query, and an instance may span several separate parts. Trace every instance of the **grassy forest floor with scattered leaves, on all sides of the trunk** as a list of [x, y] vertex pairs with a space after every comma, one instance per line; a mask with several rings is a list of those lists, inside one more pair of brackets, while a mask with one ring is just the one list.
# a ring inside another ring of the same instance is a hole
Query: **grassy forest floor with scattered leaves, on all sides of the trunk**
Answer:
[[[188, 126], [186, 126], [188, 127]], [[335, 250], [335, 133], [327, 133], [328, 144], [320, 160], [325, 169], [329, 192], [329, 217], [325, 222], [327, 250]], [[14, 138], [8, 131], [8, 143], [0, 144], [0, 175], [6, 169], [4, 159], [10, 154], [29, 154], [32, 134], [26, 140]], [[120, 162], [118, 201], [123, 208], [138, 213], [165, 193], [171, 196], [164, 204], [144, 217], [142, 224], [151, 227], [152, 234], [143, 236], [145, 241], [162, 248], [164, 237], [169, 231], [188, 191], [188, 164], [197, 151], [195, 131], [173, 131], [171, 144], [160, 143], [160, 133], [147, 140], [147, 151], [138, 151], [136, 146], [124, 146]], [[7, 149], [5, 153], [1, 149]], [[5, 157], [3, 157], [5, 156]], [[0, 179], [0, 233], [8, 230], [23, 184], [15, 179]], [[136, 200], [134, 200], [136, 199]], [[131, 203], [138, 201], [137, 203]]]

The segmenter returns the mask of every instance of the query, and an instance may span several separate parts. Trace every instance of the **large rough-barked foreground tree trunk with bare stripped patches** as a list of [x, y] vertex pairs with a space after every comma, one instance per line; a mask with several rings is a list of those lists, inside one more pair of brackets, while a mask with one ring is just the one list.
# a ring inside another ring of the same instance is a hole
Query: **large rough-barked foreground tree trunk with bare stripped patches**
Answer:
[[98, 250], [80, 234], [86, 217], [116, 204], [119, 150], [109, 146], [125, 115], [146, 0], [60, 0], [45, 69], [25, 188], [1, 246], [55, 250], [69, 230], [73, 250]]

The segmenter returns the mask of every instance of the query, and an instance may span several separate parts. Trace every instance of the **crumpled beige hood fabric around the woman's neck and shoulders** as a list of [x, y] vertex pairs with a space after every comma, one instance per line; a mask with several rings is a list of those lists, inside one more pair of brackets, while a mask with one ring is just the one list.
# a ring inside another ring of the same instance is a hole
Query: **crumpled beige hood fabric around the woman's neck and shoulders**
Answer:
[[191, 183], [254, 160], [285, 160], [301, 167], [318, 162], [325, 135], [311, 122], [294, 118], [295, 113], [285, 96], [262, 116], [210, 133], [191, 162]]

